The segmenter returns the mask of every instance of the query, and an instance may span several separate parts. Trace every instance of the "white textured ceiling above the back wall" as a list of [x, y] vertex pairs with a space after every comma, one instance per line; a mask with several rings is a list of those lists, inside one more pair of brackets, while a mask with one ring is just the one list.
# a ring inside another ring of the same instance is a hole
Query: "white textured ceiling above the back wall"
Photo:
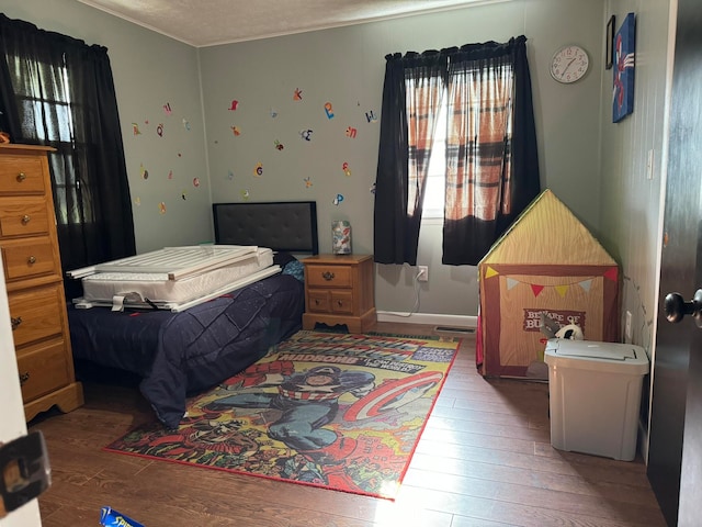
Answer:
[[506, 0], [78, 1], [201, 47]]

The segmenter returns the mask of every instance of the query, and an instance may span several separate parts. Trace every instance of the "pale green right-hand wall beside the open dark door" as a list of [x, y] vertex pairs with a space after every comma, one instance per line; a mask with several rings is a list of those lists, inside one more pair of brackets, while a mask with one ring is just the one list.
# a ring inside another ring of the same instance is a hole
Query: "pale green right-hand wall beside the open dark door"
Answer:
[[[659, 305], [663, 202], [667, 167], [669, 81], [675, 31], [668, 27], [677, 0], [609, 0], [605, 20], [636, 14], [636, 70], [634, 112], [612, 123], [611, 71], [602, 82], [602, 243], [622, 268], [622, 324], [632, 313], [632, 337], [622, 340], [643, 346], [655, 362]], [[675, 15], [672, 16], [675, 24]], [[649, 153], [653, 156], [648, 168]], [[653, 378], [644, 388], [642, 448], [647, 457], [647, 430]]]

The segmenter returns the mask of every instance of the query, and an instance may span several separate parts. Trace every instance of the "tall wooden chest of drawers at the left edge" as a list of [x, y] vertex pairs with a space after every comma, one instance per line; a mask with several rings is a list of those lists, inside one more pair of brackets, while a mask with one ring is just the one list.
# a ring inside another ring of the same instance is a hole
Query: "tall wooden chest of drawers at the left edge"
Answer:
[[0, 145], [0, 250], [24, 416], [83, 404], [68, 332], [50, 148]]

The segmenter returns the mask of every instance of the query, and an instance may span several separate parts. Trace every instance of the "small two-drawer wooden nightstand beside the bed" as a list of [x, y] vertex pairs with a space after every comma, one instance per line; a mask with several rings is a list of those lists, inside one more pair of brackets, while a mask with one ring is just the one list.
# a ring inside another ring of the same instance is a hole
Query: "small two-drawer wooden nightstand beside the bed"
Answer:
[[373, 257], [317, 255], [304, 258], [305, 306], [303, 328], [315, 324], [346, 324], [364, 333], [376, 322]]

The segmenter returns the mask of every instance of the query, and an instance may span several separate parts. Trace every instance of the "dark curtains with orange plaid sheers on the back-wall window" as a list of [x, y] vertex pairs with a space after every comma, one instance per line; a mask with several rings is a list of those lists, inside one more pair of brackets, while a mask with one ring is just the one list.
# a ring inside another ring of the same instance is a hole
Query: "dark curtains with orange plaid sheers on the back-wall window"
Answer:
[[[445, 265], [477, 265], [541, 190], [525, 42], [520, 36], [442, 49], [435, 63], [443, 71], [423, 71], [442, 79], [449, 92]], [[416, 265], [421, 205], [408, 203], [408, 188], [416, 188], [421, 203], [423, 186], [412, 187], [408, 169], [406, 70], [418, 57], [434, 58], [435, 52], [386, 56], [374, 225], [381, 264]]]

